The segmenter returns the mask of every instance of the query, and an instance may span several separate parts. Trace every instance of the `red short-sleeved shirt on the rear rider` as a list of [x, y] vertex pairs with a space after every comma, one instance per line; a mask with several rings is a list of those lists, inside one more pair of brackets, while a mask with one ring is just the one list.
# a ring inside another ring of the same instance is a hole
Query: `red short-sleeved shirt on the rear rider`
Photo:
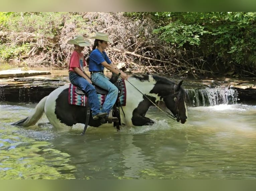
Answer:
[[74, 68], [78, 67], [80, 70], [84, 71], [83, 67], [87, 66], [84, 58], [84, 54], [79, 54], [77, 51], [74, 51], [71, 55], [69, 62], [69, 71], [75, 72]]

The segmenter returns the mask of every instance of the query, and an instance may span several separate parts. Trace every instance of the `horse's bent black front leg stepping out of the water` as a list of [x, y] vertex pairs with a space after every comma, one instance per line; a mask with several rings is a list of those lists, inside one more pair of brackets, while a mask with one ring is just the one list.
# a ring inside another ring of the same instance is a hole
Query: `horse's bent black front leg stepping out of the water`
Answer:
[[146, 98], [143, 101], [141, 101], [132, 112], [132, 124], [135, 126], [143, 126], [143, 125], [152, 125], [154, 123], [153, 120], [151, 120], [148, 117], [145, 117], [146, 112], [149, 108], [149, 106], [152, 103]]

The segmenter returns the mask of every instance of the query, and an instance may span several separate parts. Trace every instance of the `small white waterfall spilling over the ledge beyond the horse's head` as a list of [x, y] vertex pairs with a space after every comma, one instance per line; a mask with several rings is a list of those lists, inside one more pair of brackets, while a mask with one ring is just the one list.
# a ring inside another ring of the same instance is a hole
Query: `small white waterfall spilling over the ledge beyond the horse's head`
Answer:
[[229, 87], [206, 89], [186, 89], [188, 106], [213, 106], [219, 104], [235, 104], [238, 99], [237, 90]]

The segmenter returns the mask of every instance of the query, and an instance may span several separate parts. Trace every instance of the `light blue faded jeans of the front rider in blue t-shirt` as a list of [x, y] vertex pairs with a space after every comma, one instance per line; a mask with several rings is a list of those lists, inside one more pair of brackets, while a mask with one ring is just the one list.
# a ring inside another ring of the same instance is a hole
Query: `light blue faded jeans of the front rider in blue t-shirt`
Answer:
[[106, 99], [102, 105], [101, 111], [109, 113], [116, 102], [118, 96], [118, 88], [112, 84], [109, 79], [104, 76], [104, 74], [100, 72], [92, 74], [91, 81], [93, 84], [108, 90], [108, 95], [106, 96]]

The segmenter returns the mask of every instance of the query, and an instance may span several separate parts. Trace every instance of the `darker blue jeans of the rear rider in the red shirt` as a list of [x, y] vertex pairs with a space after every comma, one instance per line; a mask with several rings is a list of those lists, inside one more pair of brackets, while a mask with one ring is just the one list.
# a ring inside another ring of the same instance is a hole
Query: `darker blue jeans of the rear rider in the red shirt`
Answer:
[[79, 76], [76, 72], [69, 72], [69, 80], [72, 84], [78, 86], [81, 90], [88, 94], [88, 101], [92, 110], [92, 115], [94, 116], [100, 113], [101, 105], [94, 86], [91, 85], [86, 79]]

